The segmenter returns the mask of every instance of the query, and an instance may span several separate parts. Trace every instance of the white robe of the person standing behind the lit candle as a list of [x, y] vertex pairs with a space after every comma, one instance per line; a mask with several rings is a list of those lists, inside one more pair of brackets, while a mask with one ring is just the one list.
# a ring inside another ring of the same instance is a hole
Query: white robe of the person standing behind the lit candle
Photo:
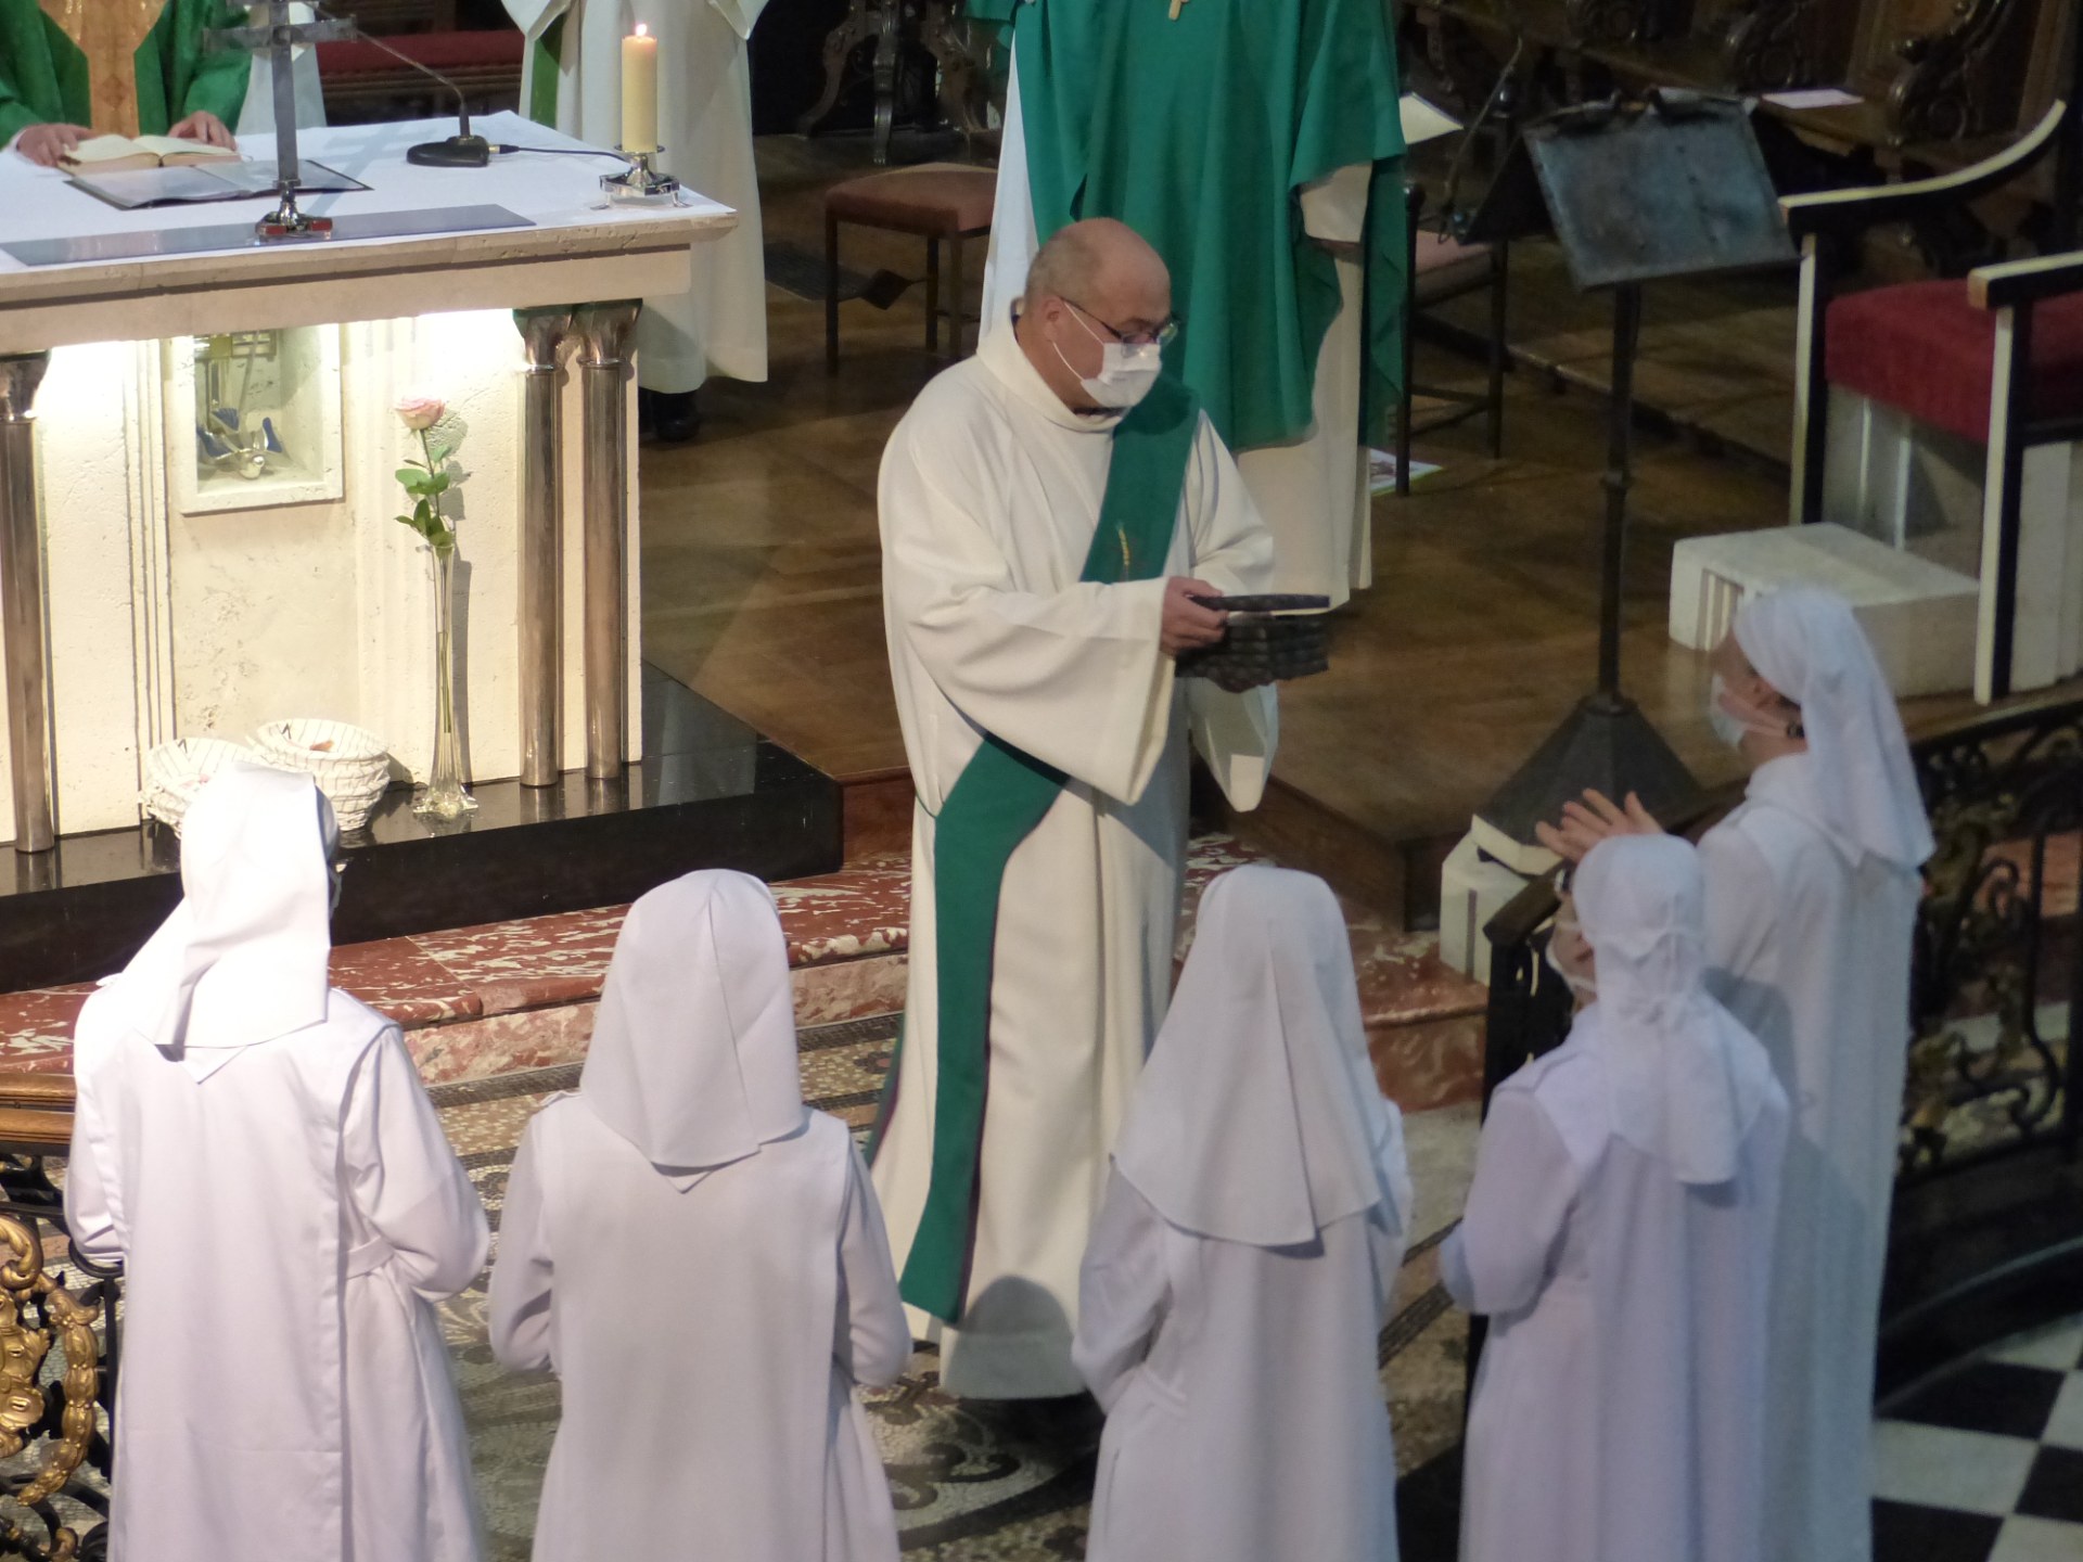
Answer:
[[712, 373], [767, 379], [767, 252], [746, 62], [746, 40], [764, 8], [767, 0], [506, 0], [506, 15], [527, 33], [521, 112], [529, 112], [539, 85], [537, 42], [562, 19], [556, 129], [594, 146], [623, 140], [621, 48], [644, 23], [658, 40], [658, 167], [737, 212], [737, 227], [696, 246], [685, 294], [644, 300], [644, 389], [692, 392]]

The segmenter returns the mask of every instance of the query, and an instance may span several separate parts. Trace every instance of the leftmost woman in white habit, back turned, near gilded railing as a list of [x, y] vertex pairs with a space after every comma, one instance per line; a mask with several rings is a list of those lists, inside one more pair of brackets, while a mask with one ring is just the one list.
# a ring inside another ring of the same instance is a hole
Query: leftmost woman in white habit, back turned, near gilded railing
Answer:
[[227, 766], [183, 900], [79, 1014], [73, 1241], [125, 1266], [110, 1554], [473, 1562], [433, 1302], [485, 1212], [398, 1027], [327, 985], [331, 808]]

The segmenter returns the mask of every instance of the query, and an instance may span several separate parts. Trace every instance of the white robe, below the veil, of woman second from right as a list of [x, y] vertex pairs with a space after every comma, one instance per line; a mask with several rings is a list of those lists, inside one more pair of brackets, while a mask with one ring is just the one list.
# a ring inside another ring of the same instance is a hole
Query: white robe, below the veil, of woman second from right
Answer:
[[1731, 1181], [1681, 1183], [1612, 1129], [1598, 1008], [1498, 1089], [1439, 1256], [1454, 1300], [1491, 1318], [1462, 1562], [1762, 1562], [1785, 1098], [1771, 1091]]

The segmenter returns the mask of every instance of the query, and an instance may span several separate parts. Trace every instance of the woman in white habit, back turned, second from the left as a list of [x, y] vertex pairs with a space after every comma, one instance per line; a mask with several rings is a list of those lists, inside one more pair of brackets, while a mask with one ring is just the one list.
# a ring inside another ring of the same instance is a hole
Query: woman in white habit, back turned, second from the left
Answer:
[[562, 1379], [535, 1562], [896, 1560], [854, 1385], [910, 1335], [852, 1135], [802, 1104], [758, 879], [629, 908], [579, 1091], [515, 1156], [492, 1350]]

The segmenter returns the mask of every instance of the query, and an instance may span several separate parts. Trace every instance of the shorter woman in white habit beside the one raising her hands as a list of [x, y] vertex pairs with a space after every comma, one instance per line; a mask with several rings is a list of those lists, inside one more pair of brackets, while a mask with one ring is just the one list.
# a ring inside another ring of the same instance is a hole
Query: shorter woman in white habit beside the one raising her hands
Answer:
[[1454, 1300], [1491, 1318], [1462, 1558], [1762, 1562], [1787, 1100], [1704, 987], [1691, 846], [1598, 846], [1575, 906], [1589, 979], [1560, 964], [1589, 1002], [1491, 1098], [1439, 1254]]

